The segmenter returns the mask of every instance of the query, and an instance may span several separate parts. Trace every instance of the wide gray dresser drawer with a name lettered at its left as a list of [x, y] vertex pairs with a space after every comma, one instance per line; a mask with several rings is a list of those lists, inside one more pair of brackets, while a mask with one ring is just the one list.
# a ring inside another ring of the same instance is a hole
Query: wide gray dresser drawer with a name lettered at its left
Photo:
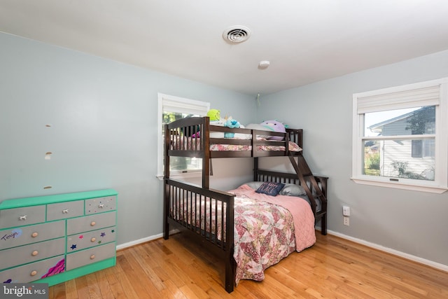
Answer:
[[15, 246], [64, 237], [65, 221], [22, 226], [0, 230], [0, 250]]

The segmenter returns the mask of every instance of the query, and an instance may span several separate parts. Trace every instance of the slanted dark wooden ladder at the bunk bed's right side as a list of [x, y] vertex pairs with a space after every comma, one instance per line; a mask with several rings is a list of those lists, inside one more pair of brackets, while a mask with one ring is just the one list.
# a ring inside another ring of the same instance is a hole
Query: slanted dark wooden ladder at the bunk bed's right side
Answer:
[[[297, 161], [295, 160], [295, 157], [297, 157]], [[316, 221], [318, 221], [319, 218], [321, 219], [321, 234], [327, 235], [327, 199], [318, 185], [316, 176], [312, 174], [311, 169], [309, 169], [307, 161], [305, 161], [303, 155], [292, 155], [292, 153], [289, 152], [288, 158], [291, 165], [293, 165], [300, 181], [300, 185], [304, 188], [307, 196], [310, 199], [317, 197], [318, 200], [320, 200], [321, 210], [316, 211], [316, 200], [310, 200], [311, 209], [313, 210]]]

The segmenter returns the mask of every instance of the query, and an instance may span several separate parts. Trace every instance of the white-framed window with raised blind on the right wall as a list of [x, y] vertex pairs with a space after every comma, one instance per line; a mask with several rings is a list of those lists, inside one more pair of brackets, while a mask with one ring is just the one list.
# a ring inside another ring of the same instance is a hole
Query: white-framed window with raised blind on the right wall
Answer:
[[448, 78], [353, 95], [356, 183], [448, 190]]

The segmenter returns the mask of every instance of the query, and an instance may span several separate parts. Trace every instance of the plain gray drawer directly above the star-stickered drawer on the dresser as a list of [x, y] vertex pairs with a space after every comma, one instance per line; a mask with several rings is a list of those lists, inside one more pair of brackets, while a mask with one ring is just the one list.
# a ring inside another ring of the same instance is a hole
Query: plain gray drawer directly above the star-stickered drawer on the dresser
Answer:
[[67, 220], [67, 235], [74, 235], [79, 232], [107, 228], [116, 224], [116, 212], [93, 214], [90, 216], [72, 218]]

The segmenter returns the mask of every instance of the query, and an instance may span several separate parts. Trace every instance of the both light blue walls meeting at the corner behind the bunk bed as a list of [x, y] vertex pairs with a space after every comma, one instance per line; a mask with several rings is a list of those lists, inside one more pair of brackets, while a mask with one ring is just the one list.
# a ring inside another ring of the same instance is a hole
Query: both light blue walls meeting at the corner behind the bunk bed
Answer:
[[[211, 102], [241, 123], [276, 118], [303, 128], [311, 169], [330, 177], [330, 230], [448, 265], [448, 193], [350, 180], [353, 92], [446, 77], [448, 52], [262, 96], [259, 107], [253, 95], [8, 34], [0, 34], [0, 69], [0, 201], [115, 188], [118, 244], [160, 234], [154, 143], [162, 92]], [[47, 151], [51, 160], [44, 160]], [[213, 188], [251, 177], [251, 159], [216, 159], [213, 167]], [[349, 227], [342, 225], [342, 204], [351, 207]]]

